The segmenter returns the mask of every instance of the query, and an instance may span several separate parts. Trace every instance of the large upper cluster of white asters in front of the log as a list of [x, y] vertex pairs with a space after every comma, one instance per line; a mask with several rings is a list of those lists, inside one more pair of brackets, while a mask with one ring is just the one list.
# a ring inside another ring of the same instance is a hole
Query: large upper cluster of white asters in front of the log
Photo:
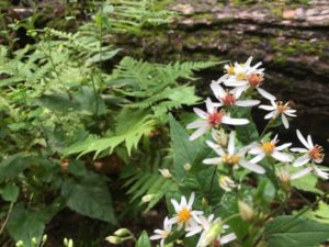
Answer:
[[[316, 164], [321, 162], [324, 159], [322, 148], [319, 145], [314, 145], [309, 135], [306, 139], [302, 133], [297, 131], [297, 137], [305, 146], [305, 148], [290, 149], [293, 153], [303, 154], [297, 158], [287, 149], [291, 147], [291, 143], [277, 145], [277, 134], [273, 139], [263, 137], [268, 127], [279, 120], [281, 120], [285, 128], [288, 128], [288, 117], [296, 116], [296, 110], [291, 109], [288, 102], [283, 103], [282, 101], [276, 101], [274, 96], [260, 88], [264, 79], [264, 69], [261, 68], [261, 63], [252, 66], [251, 61], [252, 57], [245, 64], [235, 63], [234, 65], [225, 65], [226, 74], [217, 81], [211, 83], [211, 89], [218, 102], [213, 102], [208, 98], [205, 101], [206, 112], [197, 108], [193, 109], [196, 115], [202, 120], [194, 121], [186, 126], [188, 128], [196, 128], [190, 136], [190, 141], [194, 141], [212, 130], [214, 142], [206, 141], [206, 144], [217, 155], [217, 157], [204, 159], [203, 162], [205, 165], [225, 164], [232, 169], [242, 167], [257, 173], [264, 173], [265, 169], [260, 162], [264, 158], [271, 158], [284, 165], [292, 165], [293, 167], [306, 166], [306, 168], [291, 175], [290, 179], [297, 179], [310, 172], [314, 172], [322, 179], [328, 179], [329, 173], [326, 172], [328, 169], [316, 166]], [[270, 121], [258, 142], [238, 147], [235, 144], [235, 131], [230, 131], [228, 136], [225, 137], [225, 131], [223, 131], [225, 126], [222, 127], [222, 125], [247, 125], [249, 123], [248, 119], [232, 117], [230, 112], [234, 112], [231, 111], [232, 106], [250, 108], [258, 105], [260, 101], [252, 99], [254, 93], [270, 101], [270, 105], [259, 105], [259, 109], [269, 111], [264, 119]], [[220, 130], [220, 135], [218, 134], [218, 130]], [[223, 139], [228, 139], [227, 144], [223, 144]], [[229, 190], [227, 184], [224, 186], [224, 181], [229, 181], [230, 184], [236, 187], [234, 180], [229, 177], [224, 178], [225, 180], [222, 179], [219, 182], [219, 184], [223, 184], [223, 189]]]

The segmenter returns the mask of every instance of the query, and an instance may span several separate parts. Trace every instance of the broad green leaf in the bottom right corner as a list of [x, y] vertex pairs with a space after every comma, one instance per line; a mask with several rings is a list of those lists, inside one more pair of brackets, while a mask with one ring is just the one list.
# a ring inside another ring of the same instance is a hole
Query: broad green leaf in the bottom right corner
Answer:
[[329, 224], [279, 216], [265, 225], [264, 236], [269, 247], [313, 247], [329, 239]]

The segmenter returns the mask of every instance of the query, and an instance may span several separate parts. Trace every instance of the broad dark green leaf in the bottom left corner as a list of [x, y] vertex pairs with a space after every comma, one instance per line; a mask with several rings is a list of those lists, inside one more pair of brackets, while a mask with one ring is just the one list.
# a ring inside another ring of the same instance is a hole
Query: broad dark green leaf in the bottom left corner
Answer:
[[35, 237], [37, 242], [41, 240], [46, 220], [45, 211], [27, 211], [22, 204], [19, 204], [12, 211], [7, 229], [15, 242], [23, 240], [24, 247], [34, 247], [31, 239]]

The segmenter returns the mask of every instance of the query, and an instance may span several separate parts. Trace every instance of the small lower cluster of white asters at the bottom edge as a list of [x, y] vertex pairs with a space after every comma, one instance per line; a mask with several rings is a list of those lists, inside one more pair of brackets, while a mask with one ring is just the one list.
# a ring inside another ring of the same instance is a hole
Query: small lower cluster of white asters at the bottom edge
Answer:
[[[215, 218], [214, 214], [206, 217], [203, 211], [193, 210], [194, 198], [195, 194], [193, 192], [189, 201], [185, 197], [181, 198], [180, 203], [172, 199], [171, 203], [174, 207], [174, 216], [172, 218], [166, 217], [163, 222], [163, 229], [155, 229], [155, 235], [150, 236], [150, 239], [160, 239], [160, 246], [162, 247], [164, 245], [164, 240], [170, 236], [174, 225], [177, 225], [178, 231], [185, 231], [185, 237], [200, 234], [196, 247], [205, 247], [209, 244], [208, 242], [215, 243], [219, 246], [236, 239], [236, 235], [234, 233], [226, 233], [228, 225], [222, 224], [222, 218]], [[213, 226], [216, 224], [220, 226], [219, 231], [215, 231], [215, 238], [209, 239], [208, 236], [212, 235], [212, 232], [214, 232]]]

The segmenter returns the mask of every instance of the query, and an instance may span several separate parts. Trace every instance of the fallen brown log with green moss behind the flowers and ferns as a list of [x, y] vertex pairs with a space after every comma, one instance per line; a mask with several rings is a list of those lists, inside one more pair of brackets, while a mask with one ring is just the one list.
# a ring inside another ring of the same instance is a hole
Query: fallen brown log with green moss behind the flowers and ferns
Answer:
[[[269, 2], [172, 1], [166, 8], [181, 14], [168, 26], [146, 29], [141, 36], [120, 35], [116, 42], [129, 54], [161, 63], [243, 61], [249, 56], [262, 60], [266, 67], [264, 87], [279, 99], [291, 100], [298, 110], [292, 126], [313, 133], [329, 149], [328, 1], [297, 5]], [[201, 75], [205, 80], [197, 85], [200, 91], [220, 75], [222, 67]], [[293, 128], [282, 132], [283, 136], [295, 136]]]

